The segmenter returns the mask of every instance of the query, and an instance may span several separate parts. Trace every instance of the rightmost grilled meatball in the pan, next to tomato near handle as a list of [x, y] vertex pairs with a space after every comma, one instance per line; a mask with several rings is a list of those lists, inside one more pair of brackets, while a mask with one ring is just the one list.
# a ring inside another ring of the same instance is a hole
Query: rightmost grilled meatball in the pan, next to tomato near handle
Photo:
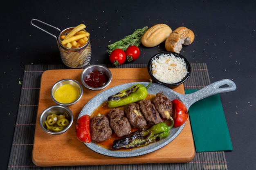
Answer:
[[152, 101], [163, 119], [169, 119], [170, 116], [173, 116], [173, 104], [164, 94], [157, 93]]

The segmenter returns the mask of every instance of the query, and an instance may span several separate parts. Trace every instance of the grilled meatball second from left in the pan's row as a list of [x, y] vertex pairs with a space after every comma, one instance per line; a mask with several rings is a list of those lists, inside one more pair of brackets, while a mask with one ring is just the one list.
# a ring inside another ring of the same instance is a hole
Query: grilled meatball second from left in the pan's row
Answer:
[[110, 119], [110, 127], [118, 137], [123, 137], [130, 133], [131, 125], [124, 115], [124, 110], [112, 108], [108, 113], [108, 117]]

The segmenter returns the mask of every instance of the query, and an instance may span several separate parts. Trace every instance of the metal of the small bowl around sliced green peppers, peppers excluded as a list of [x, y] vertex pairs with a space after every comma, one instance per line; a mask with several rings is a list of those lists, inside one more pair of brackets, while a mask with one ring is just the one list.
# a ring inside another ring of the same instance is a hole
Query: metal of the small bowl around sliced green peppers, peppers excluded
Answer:
[[[47, 116], [52, 115], [52, 114], [63, 115], [64, 113], [67, 113], [67, 115], [69, 116], [69, 118], [67, 118], [69, 121], [68, 126], [66, 126], [62, 131], [59, 131], [59, 132], [52, 132], [52, 131], [46, 129], [45, 120], [47, 119]], [[73, 116], [72, 111], [69, 108], [67, 108], [67, 106], [61, 106], [61, 105], [55, 105], [55, 106], [50, 106], [50, 107], [46, 108], [43, 111], [43, 113], [40, 115], [40, 118], [39, 118], [39, 124], [40, 124], [41, 128], [45, 132], [52, 134], [52, 135], [60, 135], [64, 132], [66, 132], [71, 127], [73, 121], [74, 121], [74, 116]]]

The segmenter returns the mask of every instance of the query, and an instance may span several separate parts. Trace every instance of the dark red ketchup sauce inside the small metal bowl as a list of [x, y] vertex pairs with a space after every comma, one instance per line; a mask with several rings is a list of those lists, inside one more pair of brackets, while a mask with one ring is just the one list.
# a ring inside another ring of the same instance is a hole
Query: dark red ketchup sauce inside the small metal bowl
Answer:
[[101, 87], [104, 86], [108, 82], [107, 76], [101, 71], [92, 71], [86, 75], [84, 79], [85, 84], [90, 87]]

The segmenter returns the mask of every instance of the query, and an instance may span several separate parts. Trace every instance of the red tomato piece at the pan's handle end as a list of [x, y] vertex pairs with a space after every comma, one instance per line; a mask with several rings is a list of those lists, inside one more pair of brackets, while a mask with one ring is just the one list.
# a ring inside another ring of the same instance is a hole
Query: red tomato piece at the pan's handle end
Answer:
[[174, 108], [174, 116], [173, 116], [174, 125], [173, 125], [173, 127], [182, 126], [189, 116], [188, 109], [178, 99], [174, 99], [172, 101], [172, 103], [173, 103], [173, 108]]

